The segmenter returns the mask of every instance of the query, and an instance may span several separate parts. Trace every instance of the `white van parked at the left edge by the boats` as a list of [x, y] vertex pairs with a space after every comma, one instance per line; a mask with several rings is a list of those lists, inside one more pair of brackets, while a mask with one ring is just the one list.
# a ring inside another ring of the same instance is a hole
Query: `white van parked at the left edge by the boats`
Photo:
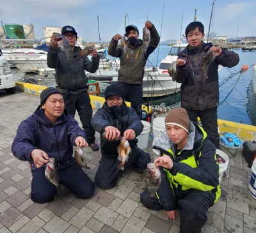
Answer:
[[5, 90], [6, 93], [14, 94], [16, 91], [15, 80], [9, 63], [0, 53], [0, 90]]

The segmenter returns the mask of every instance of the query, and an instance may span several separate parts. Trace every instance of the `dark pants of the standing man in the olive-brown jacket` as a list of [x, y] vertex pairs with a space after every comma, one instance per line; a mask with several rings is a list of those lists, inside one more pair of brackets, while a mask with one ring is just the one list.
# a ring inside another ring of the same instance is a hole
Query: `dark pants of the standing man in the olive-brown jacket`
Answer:
[[127, 84], [126, 82], [118, 82], [124, 89], [124, 98], [126, 101], [131, 102], [131, 107], [136, 110], [138, 116], [142, 116], [142, 84]]

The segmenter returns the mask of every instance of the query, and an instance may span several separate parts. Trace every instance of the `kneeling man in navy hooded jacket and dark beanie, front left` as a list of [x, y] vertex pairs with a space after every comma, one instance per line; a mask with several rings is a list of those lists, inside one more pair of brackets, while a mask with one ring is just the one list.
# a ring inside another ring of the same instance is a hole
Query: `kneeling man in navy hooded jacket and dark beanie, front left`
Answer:
[[13, 140], [12, 153], [28, 161], [32, 172], [31, 200], [44, 204], [57, 194], [45, 177], [45, 165], [54, 158], [60, 183], [81, 199], [94, 193], [95, 185], [72, 158], [73, 146], [87, 147], [86, 135], [74, 117], [64, 112], [61, 92], [53, 87], [42, 91], [40, 107], [20, 123]]

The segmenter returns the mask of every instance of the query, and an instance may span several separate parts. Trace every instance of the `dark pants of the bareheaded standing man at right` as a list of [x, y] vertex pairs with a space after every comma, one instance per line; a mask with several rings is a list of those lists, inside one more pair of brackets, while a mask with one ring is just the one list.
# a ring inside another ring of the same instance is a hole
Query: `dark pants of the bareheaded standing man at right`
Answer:
[[217, 107], [211, 109], [200, 110], [191, 110], [186, 109], [188, 112], [189, 119], [191, 121], [197, 122], [197, 117], [200, 117], [202, 126], [209, 136], [211, 142], [216, 146], [217, 149], [220, 149], [220, 135], [218, 133], [218, 116], [217, 116]]

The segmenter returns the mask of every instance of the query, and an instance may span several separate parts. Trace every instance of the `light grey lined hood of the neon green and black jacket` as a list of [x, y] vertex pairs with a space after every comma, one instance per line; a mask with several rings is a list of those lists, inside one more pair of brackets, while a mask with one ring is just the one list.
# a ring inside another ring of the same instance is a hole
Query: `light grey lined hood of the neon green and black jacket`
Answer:
[[[201, 126], [192, 121], [189, 121], [189, 135], [188, 140], [186, 142], [186, 146], [182, 150], [191, 151], [200, 149], [202, 145], [202, 141], [207, 137], [206, 132], [203, 130]], [[168, 149], [172, 149], [175, 151], [174, 144], [172, 140], [168, 137], [166, 131], [159, 137], [156, 144], [154, 144], [153, 149], [158, 149], [164, 154], [168, 154]]]

